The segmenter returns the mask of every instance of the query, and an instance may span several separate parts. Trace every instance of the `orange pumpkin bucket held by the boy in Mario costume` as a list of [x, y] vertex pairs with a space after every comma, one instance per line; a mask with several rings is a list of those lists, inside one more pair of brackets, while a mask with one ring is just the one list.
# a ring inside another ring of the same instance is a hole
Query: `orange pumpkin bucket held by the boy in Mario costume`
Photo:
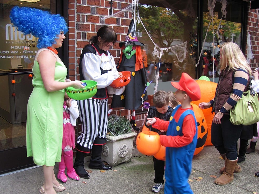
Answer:
[[141, 154], [154, 155], [161, 147], [160, 136], [154, 131], [142, 131], [137, 136], [136, 147]]

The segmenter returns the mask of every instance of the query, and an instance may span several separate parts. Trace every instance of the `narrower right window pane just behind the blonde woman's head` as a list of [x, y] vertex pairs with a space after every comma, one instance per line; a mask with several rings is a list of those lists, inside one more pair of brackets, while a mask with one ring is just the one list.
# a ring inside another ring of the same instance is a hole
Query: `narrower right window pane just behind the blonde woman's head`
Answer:
[[219, 50], [222, 43], [234, 42], [241, 47], [242, 6], [229, 1], [226, 3], [227, 14], [224, 16], [221, 11], [224, 5], [219, 1], [216, 2], [212, 23], [212, 16], [208, 11], [207, 1], [204, 1], [203, 42], [205, 40], [205, 43], [203, 45], [201, 60], [203, 75], [209, 78], [219, 77]]

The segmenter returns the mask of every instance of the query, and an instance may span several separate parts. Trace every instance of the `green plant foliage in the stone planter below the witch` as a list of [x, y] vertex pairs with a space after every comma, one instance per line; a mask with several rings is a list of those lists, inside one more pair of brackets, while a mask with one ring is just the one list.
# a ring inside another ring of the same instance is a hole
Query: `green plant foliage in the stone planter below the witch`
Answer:
[[[122, 116], [110, 115], [108, 117], [107, 135], [118, 136], [131, 133], [132, 127], [130, 121]], [[110, 133], [109, 133], [110, 132]]]

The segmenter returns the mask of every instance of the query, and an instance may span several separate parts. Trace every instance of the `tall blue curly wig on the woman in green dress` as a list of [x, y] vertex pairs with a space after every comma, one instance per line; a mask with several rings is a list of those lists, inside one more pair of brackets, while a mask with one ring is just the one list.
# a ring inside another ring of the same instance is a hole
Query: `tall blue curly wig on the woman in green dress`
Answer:
[[64, 34], [68, 32], [67, 23], [60, 14], [51, 14], [35, 8], [15, 6], [10, 11], [10, 19], [13, 26], [24, 35], [32, 33], [39, 38], [39, 49], [55, 44], [60, 31]]

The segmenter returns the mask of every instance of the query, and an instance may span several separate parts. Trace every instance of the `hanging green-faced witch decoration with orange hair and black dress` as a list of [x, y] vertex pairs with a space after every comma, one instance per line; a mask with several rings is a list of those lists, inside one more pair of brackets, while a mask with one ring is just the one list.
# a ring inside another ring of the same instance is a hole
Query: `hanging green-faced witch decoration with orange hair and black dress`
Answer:
[[[121, 54], [117, 64], [118, 71], [130, 71], [131, 81], [126, 85], [125, 91], [121, 95], [113, 95], [111, 109], [124, 107], [132, 110], [131, 125], [136, 131], [139, 128], [135, 124], [135, 109], [138, 109], [143, 101], [147, 100], [147, 92], [145, 90], [147, 84], [147, 76], [140, 46], [144, 46], [136, 37], [136, 24], [131, 20], [128, 34], [124, 42], [120, 42]], [[144, 92], [143, 92], [144, 91]]]

